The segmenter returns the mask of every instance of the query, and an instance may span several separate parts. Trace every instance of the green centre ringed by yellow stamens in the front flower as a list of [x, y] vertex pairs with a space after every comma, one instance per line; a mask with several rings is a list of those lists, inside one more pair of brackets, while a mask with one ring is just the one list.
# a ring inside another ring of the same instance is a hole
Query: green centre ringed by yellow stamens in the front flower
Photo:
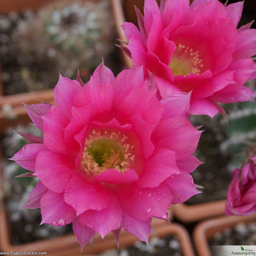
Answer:
[[99, 175], [107, 169], [124, 173], [130, 169], [135, 155], [134, 146], [121, 132], [95, 131], [86, 138], [82, 155], [82, 166], [86, 174]]

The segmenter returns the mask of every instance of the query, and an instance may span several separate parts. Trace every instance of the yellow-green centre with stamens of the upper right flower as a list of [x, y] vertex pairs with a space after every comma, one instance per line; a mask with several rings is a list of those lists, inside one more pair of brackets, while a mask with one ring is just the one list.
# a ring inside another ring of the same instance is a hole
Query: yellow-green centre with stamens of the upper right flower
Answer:
[[204, 66], [202, 62], [203, 60], [199, 58], [199, 51], [194, 51], [185, 45], [178, 44], [172, 55], [169, 67], [172, 69], [174, 76], [187, 76], [191, 73], [199, 75]]

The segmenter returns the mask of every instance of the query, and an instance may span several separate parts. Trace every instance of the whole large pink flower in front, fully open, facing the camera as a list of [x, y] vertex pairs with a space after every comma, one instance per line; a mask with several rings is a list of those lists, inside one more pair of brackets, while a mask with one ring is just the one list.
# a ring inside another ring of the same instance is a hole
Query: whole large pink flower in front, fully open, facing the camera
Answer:
[[121, 228], [147, 242], [151, 217], [198, 193], [189, 172], [201, 132], [184, 102], [164, 111], [148, 87], [141, 68], [114, 78], [100, 65], [84, 86], [60, 77], [55, 106], [26, 106], [43, 139], [23, 134], [12, 158], [40, 179], [24, 207], [41, 207], [42, 223], [73, 222], [82, 247], [96, 232], [118, 242]]

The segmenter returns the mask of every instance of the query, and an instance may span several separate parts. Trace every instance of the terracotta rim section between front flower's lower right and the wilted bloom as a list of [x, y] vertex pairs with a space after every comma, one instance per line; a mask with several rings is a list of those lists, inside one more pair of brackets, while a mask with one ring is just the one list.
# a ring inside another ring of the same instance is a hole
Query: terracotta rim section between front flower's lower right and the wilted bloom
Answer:
[[210, 217], [223, 215], [226, 199], [215, 202], [187, 205], [185, 203], [172, 205], [175, 218], [183, 222], [194, 222]]

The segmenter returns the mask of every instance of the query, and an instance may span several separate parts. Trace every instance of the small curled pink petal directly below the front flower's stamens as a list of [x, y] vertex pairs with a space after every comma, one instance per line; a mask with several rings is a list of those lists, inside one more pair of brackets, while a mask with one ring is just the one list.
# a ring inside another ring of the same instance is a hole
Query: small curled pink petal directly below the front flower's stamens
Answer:
[[124, 173], [119, 173], [115, 169], [108, 169], [105, 172], [94, 177], [94, 180], [103, 183], [119, 184], [119, 183], [129, 183], [134, 182], [139, 179], [137, 173], [133, 169], [129, 169]]

